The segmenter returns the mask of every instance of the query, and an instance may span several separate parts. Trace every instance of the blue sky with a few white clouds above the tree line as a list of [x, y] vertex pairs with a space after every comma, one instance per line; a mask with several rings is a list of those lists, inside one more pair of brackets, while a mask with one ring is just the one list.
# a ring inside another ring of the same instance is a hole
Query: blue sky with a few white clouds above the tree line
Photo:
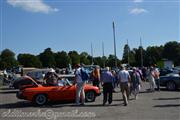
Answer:
[[0, 50], [39, 54], [76, 50], [117, 56], [123, 47], [138, 48], [180, 42], [180, 0], [1, 0]]

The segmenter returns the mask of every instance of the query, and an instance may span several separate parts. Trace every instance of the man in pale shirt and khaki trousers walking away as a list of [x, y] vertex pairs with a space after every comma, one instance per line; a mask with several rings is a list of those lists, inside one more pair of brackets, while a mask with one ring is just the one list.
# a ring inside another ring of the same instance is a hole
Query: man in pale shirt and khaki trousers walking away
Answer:
[[128, 99], [129, 99], [129, 82], [131, 80], [131, 77], [129, 75], [129, 72], [125, 69], [125, 67], [122, 67], [122, 70], [118, 73], [118, 80], [120, 81], [121, 85], [121, 92], [123, 96], [124, 105], [127, 106]]

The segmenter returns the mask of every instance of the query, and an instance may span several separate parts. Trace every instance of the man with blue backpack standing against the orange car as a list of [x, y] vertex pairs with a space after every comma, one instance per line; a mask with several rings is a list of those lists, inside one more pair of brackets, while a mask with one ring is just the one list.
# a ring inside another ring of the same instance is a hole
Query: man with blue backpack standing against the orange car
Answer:
[[[76, 104], [77, 105], [84, 105], [85, 103], [85, 93], [84, 93], [84, 85], [85, 85], [85, 81], [82, 80], [81, 77], [81, 66], [80, 64], [77, 64], [75, 66], [76, 71], [75, 71], [75, 83], [76, 83]], [[82, 96], [82, 97], [81, 97]], [[80, 98], [81, 98], [81, 104], [80, 102]]]

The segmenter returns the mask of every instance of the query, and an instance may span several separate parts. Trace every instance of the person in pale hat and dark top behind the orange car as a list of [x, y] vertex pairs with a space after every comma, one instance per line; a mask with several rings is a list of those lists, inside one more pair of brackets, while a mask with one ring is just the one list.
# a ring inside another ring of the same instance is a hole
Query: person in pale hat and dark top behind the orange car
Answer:
[[48, 86], [57, 86], [58, 75], [56, 74], [54, 69], [50, 69], [49, 72], [46, 73], [44, 80], [46, 81], [46, 85]]

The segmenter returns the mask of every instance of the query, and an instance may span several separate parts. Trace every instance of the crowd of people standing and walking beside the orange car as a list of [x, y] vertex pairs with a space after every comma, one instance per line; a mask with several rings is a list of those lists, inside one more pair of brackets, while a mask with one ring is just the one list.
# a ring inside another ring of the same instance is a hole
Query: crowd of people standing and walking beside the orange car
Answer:
[[[80, 64], [76, 65], [75, 71], [75, 83], [77, 84], [76, 90], [76, 104], [84, 105], [85, 94], [84, 94], [84, 85], [86, 81], [81, 77], [81, 69], [83, 69]], [[101, 71], [99, 67], [96, 67], [91, 75], [90, 81], [93, 86], [103, 88], [103, 105], [111, 104], [113, 101], [113, 92], [116, 87], [120, 87], [124, 106], [128, 105], [129, 96], [134, 95], [134, 99], [138, 98], [139, 91], [142, 87], [142, 81], [149, 82], [150, 92], [154, 92], [157, 86], [159, 90], [159, 71], [156, 68], [156, 65], [149, 68], [136, 68], [133, 67], [131, 70], [128, 70], [126, 67], [121, 66], [119, 71], [110, 70], [109, 67], [106, 67], [105, 70]], [[155, 82], [157, 81], [157, 82]], [[80, 103], [81, 99], [81, 103]]]

